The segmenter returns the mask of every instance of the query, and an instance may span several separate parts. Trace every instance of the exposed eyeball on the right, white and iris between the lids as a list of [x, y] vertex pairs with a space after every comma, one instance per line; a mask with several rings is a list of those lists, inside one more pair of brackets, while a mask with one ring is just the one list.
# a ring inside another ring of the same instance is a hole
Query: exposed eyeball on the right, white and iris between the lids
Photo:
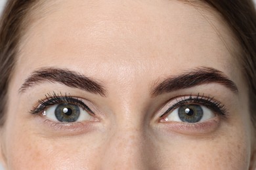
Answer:
[[208, 109], [203, 105], [186, 104], [169, 112], [169, 114], [165, 116], [164, 121], [197, 123], [215, 116], [216, 115], [211, 109]]

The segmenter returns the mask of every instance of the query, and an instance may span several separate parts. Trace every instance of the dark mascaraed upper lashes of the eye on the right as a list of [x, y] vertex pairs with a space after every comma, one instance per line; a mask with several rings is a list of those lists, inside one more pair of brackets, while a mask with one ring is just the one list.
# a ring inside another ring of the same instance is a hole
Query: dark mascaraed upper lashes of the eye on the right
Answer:
[[216, 101], [213, 97], [205, 96], [204, 94], [200, 95], [198, 93], [198, 95], [196, 97], [193, 97], [191, 94], [189, 96], [189, 98], [181, 97], [180, 99], [176, 99], [176, 101], [177, 102], [174, 105], [172, 105], [171, 107], [169, 107], [160, 116], [160, 118], [162, 118], [163, 116], [168, 114], [171, 110], [177, 109], [178, 107], [181, 107], [182, 105], [186, 105], [186, 104], [198, 104], [198, 105], [201, 104], [205, 107], [208, 107], [209, 109], [212, 109], [214, 112], [216, 112], [217, 114], [220, 114], [221, 116], [226, 117], [228, 115], [226, 107], [224, 105], [222, 105], [221, 102]]

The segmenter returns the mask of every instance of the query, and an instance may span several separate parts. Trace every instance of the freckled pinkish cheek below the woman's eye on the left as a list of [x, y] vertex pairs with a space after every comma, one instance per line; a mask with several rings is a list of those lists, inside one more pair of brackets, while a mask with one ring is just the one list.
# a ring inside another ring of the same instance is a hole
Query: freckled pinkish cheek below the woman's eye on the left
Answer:
[[[98, 135], [45, 137], [30, 121], [9, 116], [4, 150], [8, 169], [95, 169], [100, 141]], [[39, 126], [39, 125], [38, 125]]]

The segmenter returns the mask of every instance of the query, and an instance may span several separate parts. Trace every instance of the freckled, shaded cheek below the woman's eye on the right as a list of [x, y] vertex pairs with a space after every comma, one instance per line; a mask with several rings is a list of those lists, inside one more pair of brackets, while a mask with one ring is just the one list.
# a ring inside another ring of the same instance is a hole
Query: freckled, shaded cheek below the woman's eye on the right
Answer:
[[158, 135], [158, 162], [163, 169], [249, 169], [249, 130], [242, 119], [233, 123], [207, 136]]

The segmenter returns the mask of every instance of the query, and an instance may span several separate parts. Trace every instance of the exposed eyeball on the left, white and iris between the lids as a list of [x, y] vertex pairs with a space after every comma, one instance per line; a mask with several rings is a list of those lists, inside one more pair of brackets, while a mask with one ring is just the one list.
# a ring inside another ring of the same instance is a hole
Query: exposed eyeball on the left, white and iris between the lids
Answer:
[[86, 110], [72, 103], [52, 105], [43, 111], [43, 116], [56, 122], [81, 122], [93, 119]]

